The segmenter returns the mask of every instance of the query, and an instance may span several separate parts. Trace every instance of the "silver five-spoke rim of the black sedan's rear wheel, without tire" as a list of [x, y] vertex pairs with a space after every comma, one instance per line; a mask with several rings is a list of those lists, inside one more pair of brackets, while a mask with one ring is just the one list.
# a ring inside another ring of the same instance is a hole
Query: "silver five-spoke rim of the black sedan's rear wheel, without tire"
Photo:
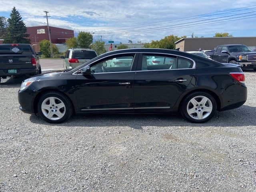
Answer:
[[195, 120], [203, 120], [212, 113], [212, 102], [206, 96], [196, 96], [187, 104], [188, 115]]

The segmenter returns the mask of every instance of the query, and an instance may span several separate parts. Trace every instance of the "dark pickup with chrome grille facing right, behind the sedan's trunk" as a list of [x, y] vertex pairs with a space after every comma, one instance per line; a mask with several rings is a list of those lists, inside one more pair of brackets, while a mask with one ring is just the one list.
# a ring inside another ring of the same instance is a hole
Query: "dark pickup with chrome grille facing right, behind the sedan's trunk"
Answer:
[[205, 54], [221, 63], [239, 64], [242, 69], [256, 70], [256, 52], [246, 45], [219, 45], [214, 52], [206, 52]]

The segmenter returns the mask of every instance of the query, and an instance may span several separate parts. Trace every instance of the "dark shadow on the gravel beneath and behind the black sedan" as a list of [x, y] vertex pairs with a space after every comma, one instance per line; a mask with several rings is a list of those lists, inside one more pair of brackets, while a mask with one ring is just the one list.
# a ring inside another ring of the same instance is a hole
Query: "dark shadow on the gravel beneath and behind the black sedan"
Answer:
[[145, 126], [236, 127], [256, 126], [255, 111], [256, 107], [243, 105], [237, 109], [216, 112], [209, 122], [203, 124], [188, 122], [181, 115], [177, 114], [85, 114], [72, 116], [67, 122], [62, 124], [49, 124], [40, 119], [39, 116], [31, 115], [30, 121], [36, 124], [67, 127], [128, 126], [137, 130], [142, 130]]

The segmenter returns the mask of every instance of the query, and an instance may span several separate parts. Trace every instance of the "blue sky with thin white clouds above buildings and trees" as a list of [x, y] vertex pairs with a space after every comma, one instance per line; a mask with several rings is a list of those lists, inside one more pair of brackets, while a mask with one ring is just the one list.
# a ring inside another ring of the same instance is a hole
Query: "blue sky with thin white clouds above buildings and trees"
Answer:
[[256, 0], [0, 0], [0, 16], [12, 8], [27, 27], [49, 26], [90, 32], [94, 41], [151, 42], [174, 35], [256, 36]]

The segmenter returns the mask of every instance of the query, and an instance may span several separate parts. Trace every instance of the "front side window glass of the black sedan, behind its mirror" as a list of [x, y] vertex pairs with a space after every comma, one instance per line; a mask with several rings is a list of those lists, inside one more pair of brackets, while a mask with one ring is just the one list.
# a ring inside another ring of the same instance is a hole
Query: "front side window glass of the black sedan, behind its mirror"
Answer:
[[109, 58], [91, 66], [92, 73], [128, 72], [132, 68], [134, 55]]

